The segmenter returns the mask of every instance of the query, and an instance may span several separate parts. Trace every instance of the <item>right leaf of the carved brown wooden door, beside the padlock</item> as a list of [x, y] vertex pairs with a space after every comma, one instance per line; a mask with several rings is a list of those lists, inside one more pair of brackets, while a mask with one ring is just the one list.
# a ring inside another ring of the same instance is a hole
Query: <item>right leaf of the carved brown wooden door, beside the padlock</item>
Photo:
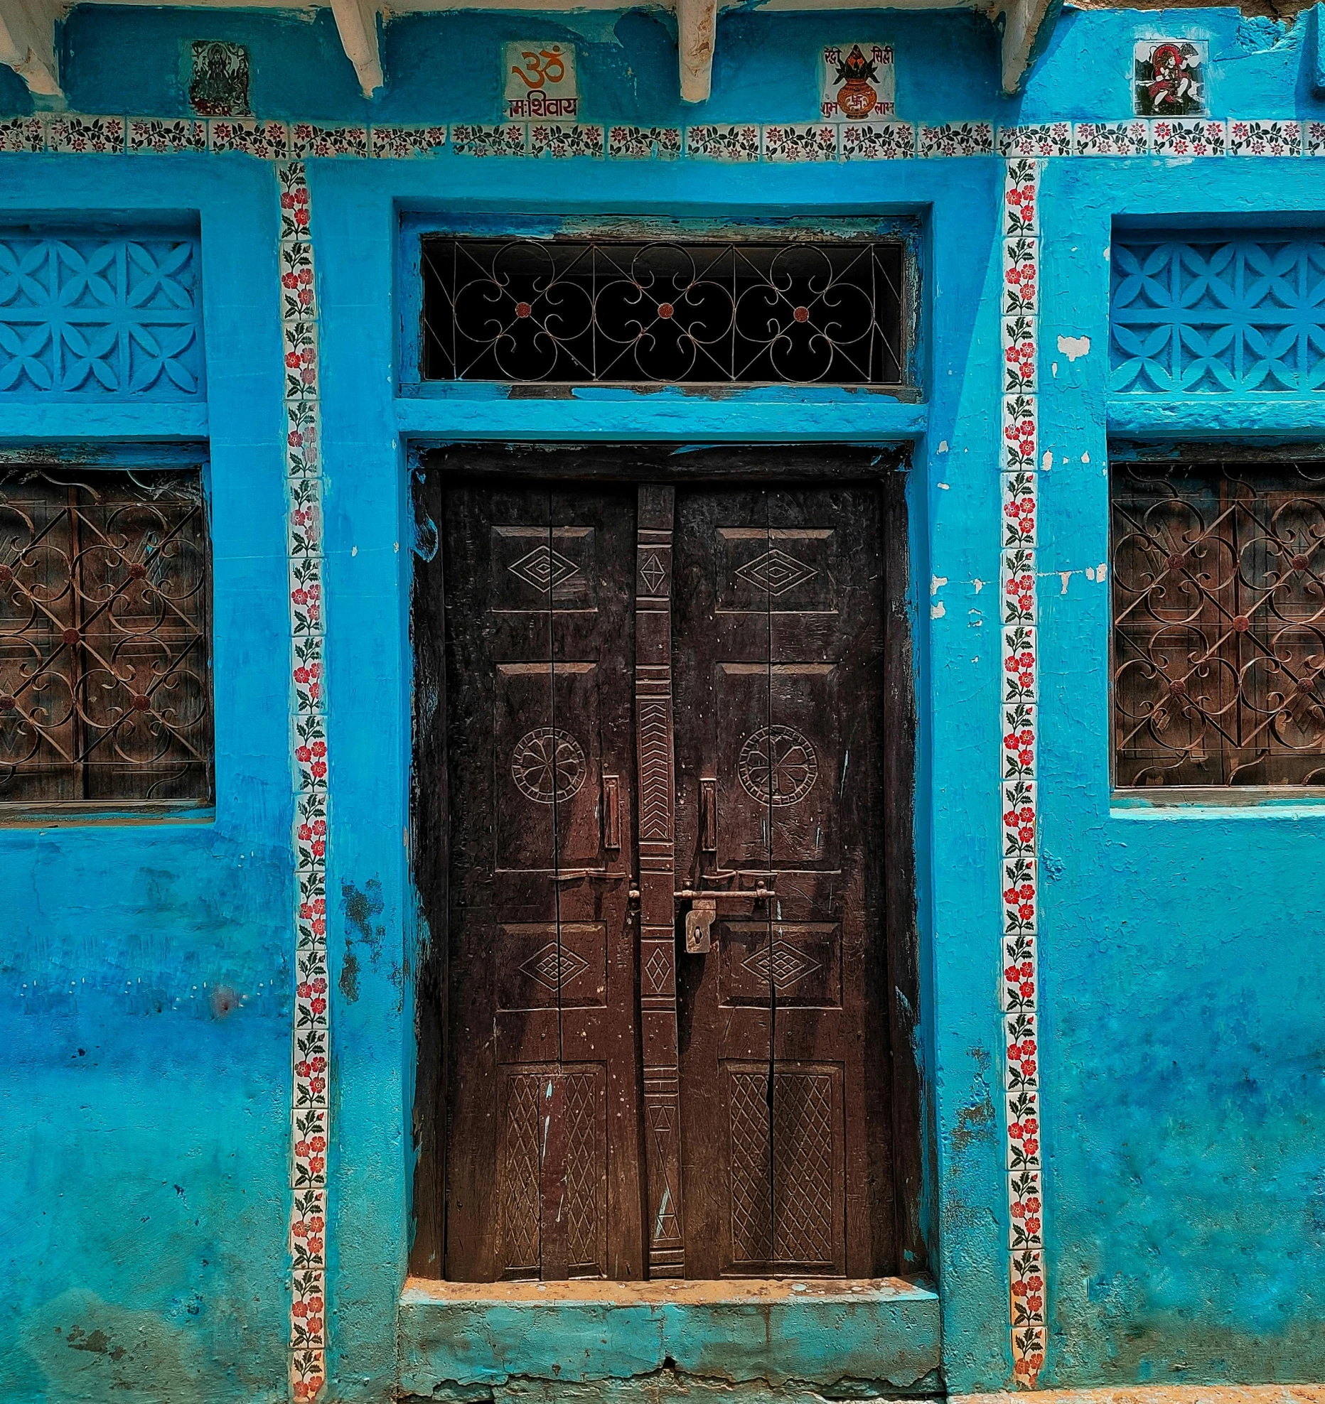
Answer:
[[880, 526], [868, 487], [676, 494], [677, 882], [718, 893], [679, 956], [687, 1276], [892, 1271]]

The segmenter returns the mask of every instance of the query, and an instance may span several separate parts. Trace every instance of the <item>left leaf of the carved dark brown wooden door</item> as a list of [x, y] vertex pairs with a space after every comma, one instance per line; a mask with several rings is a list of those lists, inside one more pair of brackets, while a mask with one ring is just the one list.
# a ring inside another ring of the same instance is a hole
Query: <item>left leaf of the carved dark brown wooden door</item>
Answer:
[[642, 1275], [634, 490], [444, 493], [445, 1275]]

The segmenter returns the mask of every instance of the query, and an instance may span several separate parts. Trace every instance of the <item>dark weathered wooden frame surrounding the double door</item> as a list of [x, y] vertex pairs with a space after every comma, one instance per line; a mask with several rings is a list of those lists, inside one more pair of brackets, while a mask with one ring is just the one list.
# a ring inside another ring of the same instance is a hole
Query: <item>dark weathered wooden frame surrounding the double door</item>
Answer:
[[[415, 1234], [409, 1271], [443, 1276], [447, 1111], [447, 875], [448, 786], [445, 754], [444, 597], [440, 528], [441, 486], [448, 477], [544, 479], [615, 483], [801, 483], [873, 482], [882, 496], [884, 552], [884, 942], [888, 969], [888, 1078], [891, 1082], [895, 1238], [892, 1273], [927, 1272], [922, 1221], [923, 1101], [920, 1067], [920, 962], [916, 908], [915, 792], [916, 696], [909, 609], [910, 538], [906, 480], [909, 442], [742, 445], [628, 444], [596, 439], [455, 441], [419, 445], [410, 453], [416, 546], [410, 581], [413, 647], [410, 757], [410, 868], [430, 932], [416, 977], [413, 1136]], [[440, 835], [430, 844], [422, 834]], [[898, 875], [888, 880], [887, 875]], [[482, 1292], [482, 1286], [475, 1287]]]

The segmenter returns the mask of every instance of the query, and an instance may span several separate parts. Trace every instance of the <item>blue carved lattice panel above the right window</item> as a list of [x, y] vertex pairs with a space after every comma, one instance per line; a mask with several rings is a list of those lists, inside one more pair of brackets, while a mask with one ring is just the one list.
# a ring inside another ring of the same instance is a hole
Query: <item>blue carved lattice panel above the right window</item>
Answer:
[[1109, 268], [1116, 393], [1325, 386], [1321, 234], [1127, 234], [1114, 240]]

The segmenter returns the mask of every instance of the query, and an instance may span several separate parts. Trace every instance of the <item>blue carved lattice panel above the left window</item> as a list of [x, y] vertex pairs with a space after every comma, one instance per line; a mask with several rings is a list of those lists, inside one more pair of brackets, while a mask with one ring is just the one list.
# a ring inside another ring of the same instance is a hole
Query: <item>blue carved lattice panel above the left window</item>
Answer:
[[194, 240], [0, 230], [0, 393], [201, 399]]

